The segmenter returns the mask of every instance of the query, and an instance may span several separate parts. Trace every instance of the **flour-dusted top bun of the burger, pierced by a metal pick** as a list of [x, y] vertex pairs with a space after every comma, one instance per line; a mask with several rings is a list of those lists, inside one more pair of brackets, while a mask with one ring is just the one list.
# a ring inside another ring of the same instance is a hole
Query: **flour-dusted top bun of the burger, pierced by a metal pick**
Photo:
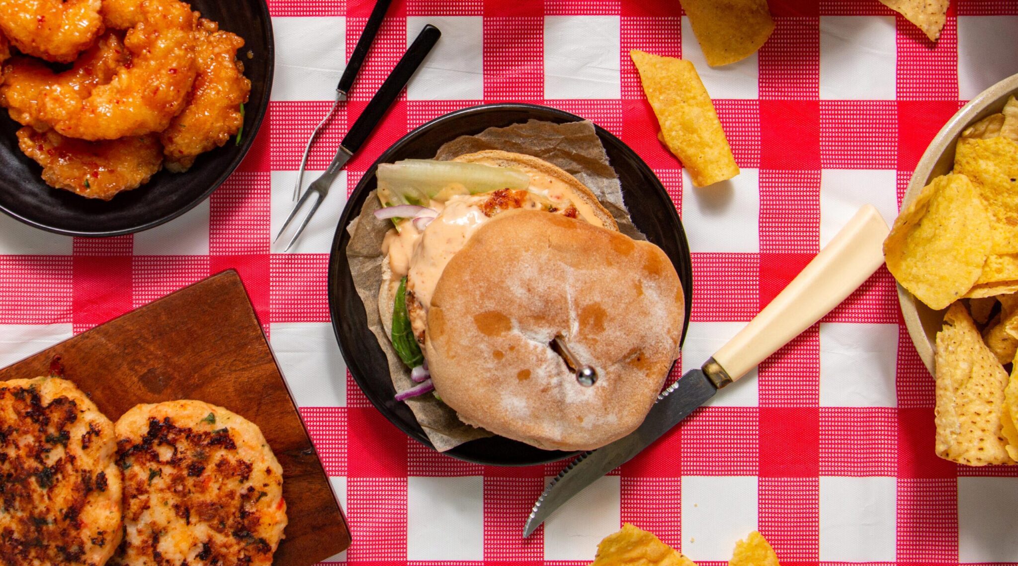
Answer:
[[[589, 450], [643, 421], [679, 355], [684, 298], [658, 246], [541, 211], [482, 226], [453, 257], [426, 350], [460, 419], [544, 449]], [[599, 380], [583, 387], [562, 337]]]

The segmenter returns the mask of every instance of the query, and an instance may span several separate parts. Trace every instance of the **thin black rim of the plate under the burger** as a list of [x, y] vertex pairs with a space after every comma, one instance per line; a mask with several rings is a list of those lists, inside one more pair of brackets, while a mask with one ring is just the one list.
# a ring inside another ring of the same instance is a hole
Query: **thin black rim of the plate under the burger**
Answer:
[[[587, 118], [583, 118], [582, 116], [578, 116], [578, 115], [573, 114], [571, 112], [568, 112], [568, 111], [565, 111], [565, 110], [561, 110], [559, 108], [554, 108], [554, 107], [550, 107], [550, 106], [543, 106], [543, 105], [538, 105], [538, 104], [499, 102], [499, 103], [479, 104], [479, 105], [474, 105], [474, 106], [468, 106], [468, 107], [465, 107], [465, 108], [460, 108], [460, 109], [448, 112], [446, 114], [442, 114], [441, 116], [438, 116], [438, 117], [436, 117], [436, 118], [434, 118], [432, 120], [429, 120], [428, 122], [426, 122], [426, 123], [423, 123], [423, 124], [421, 124], [421, 125], [413, 128], [412, 130], [408, 131], [405, 135], [403, 135], [402, 137], [400, 137], [399, 139], [397, 139], [395, 143], [393, 143], [364, 171], [363, 175], [357, 181], [356, 186], [350, 192], [350, 194], [348, 196], [348, 200], [347, 200], [346, 204], [343, 207], [343, 213], [342, 213], [342, 215], [340, 217], [339, 223], [336, 226], [336, 233], [335, 233], [335, 236], [333, 238], [333, 243], [332, 243], [332, 247], [331, 247], [331, 250], [330, 250], [330, 258], [329, 258], [328, 301], [329, 301], [330, 322], [332, 324], [333, 332], [334, 332], [335, 337], [336, 337], [336, 342], [339, 344], [340, 352], [342, 353], [344, 359], [348, 359], [348, 356], [352, 352], [350, 352], [349, 349], [344, 344], [344, 339], [342, 337], [342, 332], [341, 332], [341, 329], [340, 329], [340, 324], [338, 322], [339, 321], [339, 315], [340, 315], [339, 308], [338, 308], [338, 304], [339, 304], [340, 300], [339, 300], [339, 297], [337, 296], [338, 295], [337, 278], [339, 277], [339, 273], [338, 273], [339, 270], [335, 269], [335, 267], [334, 267], [334, 258], [335, 258], [335, 256], [337, 253], [345, 252], [345, 247], [344, 247], [344, 250], [340, 250], [340, 248], [339, 248], [340, 240], [343, 237], [342, 234], [344, 232], [346, 232], [346, 227], [353, 220], [353, 218], [355, 218], [356, 215], [360, 214], [360, 210], [359, 209], [356, 210], [356, 211], [354, 211], [353, 207], [351, 206], [351, 203], [354, 201], [354, 199], [353, 199], [354, 194], [356, 194], [357, 191], [363, 190], [365, 183], [371, 178], [374, 177], [374, 175], [376, 173], [376, 170], [378, 169], [378, 165], [380, 163], [387, 163], [387, 162], [391, 161], [392, 155], [394, 153], [396, 153], [397, 151], [399, 151], [400, 149], [402, 149], [402, 147], [406, 143], [408, 143], [408, 140], [410, 140], [411, 138], [415, 138], [416, 136], [420, 135], [421, 133], [427, 133], [427, 131], [429, 129], [431, 129], [432, 127], [434, 127], [437, 123], [445, 122], [445, 121], [448, 121], [450, 119], [455, 119], [455, 118], [458, 118], [458, 117], [460, 117], [462, 115], [470, 115], [470, 114], [474, 114], [474, 113], [478, 113], [478, 112], [490, 112], [490, 111], [498, 111], [498, 110], [509, 110], [509, 111], [538, 110], [540, 112], [551, 113], [551, 114], [554, 114], [554, 115], [558, 115], [559, 117], [565, 118], [568, 121], [582, 121], [582, 120], [590, 121], [593, 124], [595, 130], [598, 133], [599, 137], [606, 136], [609, 139], [614, 140], [615, 143], [618, 144], [618, 147], [622, 150], [623, 153], [630, 154], [630, 157], [634, 157], [636, 163], [642, 165], [642, 167], [645, 168], [646, 171], [648, 171], [651, 173], [651, 175], [657, 180], [656, 183], [649, 183], [649, 184], [653, 185], [654, 190], [659, 191], [661, 193], [661, 195], [663, 195], [664, 197], [666, 197], [669, 202], [672, 202], [671, 195], [668, 194], [668, 190], [665, 188], [665, 186], [661, 182], [661, 180], [658, 179], [657, 173], [655, 173], [654, 169], [652, 169], [651, 166], [646, 164], [646, 162], [643, 160], [643, 158], [639, 157], [639, 154], [637, 154], [627, 144], [623, 143], [618, 136], [616, 136], [612, 132], [608, 131], [607, 129], [603, 128], [602, 126], [598, 125], [593, 120], [589, 120]], [[688, 279], [688, 281], [689, 281], [689, 283], [688, 283], [688, 293], [686, 293], [686, 304], [685, 304], [685, 314], [684, 314], [683, 327], [682, 327], [682, 337], [680, 338], [680, 342], [684, 342], [685, 341], [685, 337], [686, 337], [686, 333], [687, 333], [688, 328], [689, 328], [689, 322], [690, 322], [690, 317], [691, 317], [692, 300], [693, 300], [691, 253], [689, 252], [688, 239], [686, 238], [685, 229], [682, 226], [682, 220], [679, 217], [678, 210], [673, 206], [673, 207], [669, 208], [669, 210], [666, 212], [666, 214], [669, 214], [670, 217], [674, 217], [673, 219], [674, 219], [675, 223], [680, 227], [679, 231], [680, 231], [680, 236], [682, 238], [682, 241], [679, 242], [679, 243], [681, 244], [682, 249], [684, 249], [686, 251], [686, 253], [689, 256], [689, 266], [688, 266], [689, 269], [685, 270], [682, 274], [680, 274], [680, 277]], [[682, 271], [682, 270], [680, 270], [679, 266], [676, 266], [676, 269], [678, 271]], [[685, 285], [683, 286], [683, 291], [684, 292], [686, 291], [686, 286]], [[359, 300], [359, 296], [357, 298], [358, 298], [358, 302], [361, 304], [361, 306], [364, 307], [363, 302]], [[673, 365], [674, 365], [674, 363], [673, 363]], [[348, 369], [348, 371], [349, 371], [349, 369]], [[363, 388], [363, 386], [360, 383], [361, 379], [363, 379], [363, 378], [360, 377], [360, 376], [354, 375], [354, 373], [352, 371], [349, 371], [349, 373], [350, 373], [350, 376], [353, 377], [353, 381], [357, 384], [357, 387], [359, 387], [361, 389], [361, 391], [364, 391], [364, 388]], [[389, 418], [389, 415], [388, 415], [387, 411], [383, 410], [383, 407], [380, 406], [379, 402], [377, 402], [377, 400], [373, 396], [367, 395], [366, 392], [365, 392], [364, 396], [367, 397], [367, 400], [372, 403], [373, 407], [379, 413], [381, 413], [382, 416], [384, 416], [386, 418], [386, 420], [388, 420], [389, 422], [391, 422], [392, 425], [394, 425], [397, 429], [399, 429], [400, 431], [402, 431], [407, 437], [413, 439], [416, 442], [419, 442], [419, 443], [423, 444], [425, 446], [431, 448], [432, 450], [435, 450], [434, 445], [432, 445], [432, 443], [428, 440], [427, 436], [425, 436], [423, 434], [418, 434], [417, 431], [414, 431], [410, 427], [405, 426], [405, 423], [402, 422], [399, 419], [395, 419], [394, 420], [394, 419]], [[495, 437], [495, 438], [504, 438], [504, 437]], [[478, 439], [478, 440], [484, 440], [484, 439]], [[470, 442], [475, 442], [475, 441], [470, 441]], [[468, 443], [464, 443], [464, 444], [468, 444]], [[462, 445], [460, 445], [460, 446], [462, 446]], [[480, 459], [480, 458], [472, 458], [472, 457], [469, 457], [467, 455], [460, 454], [460, 453], [457, 452], [457, 448], [459, 448], [459, 446], [454, 447], [454, 448], [452, 448], [450, 450], [447, 450], [445, 452], [442, 452], [442, 454], [445, 454], [447, 456], [456, 458], [458, 460], [462, 460], [462, 461], [466, 461], [466, 462], [470, 462], [470, 463], [474, 463], [474, 464], [496, 465], [496, 466], [500, 466], [500, 467], [519, 467], [519, 466], [542, 465], [542, 464], [547, 464], [547, 463], [552, 463], [552, 462], [557, 462], [557, 461], [565, 460], [567, 458], [571, 458], [571, 457], [573, 457], [573, 456], [575, 456], [577, 454], [580, 454], [582, 452], [582, 451], [569, 451], [569, 452], [566, 452], [566, 451], [546, 451], [548, 453], [548, 458], [546, 458], [546, 459], [531, 460], [531, 461], [526, 461], [526, 462], [518, 462], [518, 463], [497, 463], [497, 462], [493, 462], [491, 460], [485, 460], [485, 459]]]

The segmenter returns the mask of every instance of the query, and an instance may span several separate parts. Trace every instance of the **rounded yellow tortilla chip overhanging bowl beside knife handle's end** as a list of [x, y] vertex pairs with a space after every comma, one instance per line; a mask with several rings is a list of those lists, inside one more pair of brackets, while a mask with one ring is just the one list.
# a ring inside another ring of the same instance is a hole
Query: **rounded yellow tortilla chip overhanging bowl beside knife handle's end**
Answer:
[[923, 187], [884, 241], [888, 270], [935, 310], [978, 280], [989, 252], [989, 217], [964, 175], [943, 175]]

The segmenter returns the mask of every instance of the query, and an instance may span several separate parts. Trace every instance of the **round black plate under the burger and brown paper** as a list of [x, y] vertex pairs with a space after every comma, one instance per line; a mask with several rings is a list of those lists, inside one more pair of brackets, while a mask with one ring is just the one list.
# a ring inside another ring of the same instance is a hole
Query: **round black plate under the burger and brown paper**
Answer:
[[[435, 157], [446, 142], [460, 135], [479, 133], [488, 127], [505, 127], [529, 119], [550, 122], [575, 122], [579, 116], [529, 104], [490, 104], [464, 108], [441, 116], [403, 136], [382, 154], [353, 189], [332, 242], [329, 258], [329, 312], [332, 326], [339, 340], [339, 348], [354, 381], [367, 399], [393, 425], [413, 439], [432, 446], [423, 430], [417, 425], [409, 407], [396, 401], [396, 394], [389, 377], [389, 363], [375, 335], [367, 330], [364, 305], [353, 287], [349, 265], [346, 262], [346, 244], [350, 236], [346, 226], [360, 214], [367, 194], [375, 190], [375, 169], [379, 163], [392, 163], [401, 159]], [[596, 126], [608, 158], [622, 181], [622, 194], [636, 225], [652, 242], [660, 245], [675, 264], [682, 279], [686, 297], [686, 319], [682, 327], [685, 338], [692, 305], [692, 263], [689, 245], [682, 230], [682, 222], [675, 212], [675, 205], [658, 177], [632, 150], [618, 137]], [[531, 465], [560, 460], [574, 453], [541, 450], [503, 437], [473, 440], [453, 448], [446, 454], [466, 460], [492, 465]]]

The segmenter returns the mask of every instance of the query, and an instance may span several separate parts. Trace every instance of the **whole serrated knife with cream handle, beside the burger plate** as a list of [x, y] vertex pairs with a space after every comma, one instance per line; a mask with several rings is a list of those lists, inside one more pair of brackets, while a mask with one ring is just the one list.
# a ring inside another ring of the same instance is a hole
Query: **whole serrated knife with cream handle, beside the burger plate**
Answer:
[[643, 423], [626, 437], [585, 452], [541, 494], [523, 527], [529, 536], [545, 519], [593, 480], [629, 461], [714, 394], [746, 375], [811, 327], [884, 264], [888, 225], [866, 205], [752, 321], [699, 370], [690, 370], [658, 396]]

